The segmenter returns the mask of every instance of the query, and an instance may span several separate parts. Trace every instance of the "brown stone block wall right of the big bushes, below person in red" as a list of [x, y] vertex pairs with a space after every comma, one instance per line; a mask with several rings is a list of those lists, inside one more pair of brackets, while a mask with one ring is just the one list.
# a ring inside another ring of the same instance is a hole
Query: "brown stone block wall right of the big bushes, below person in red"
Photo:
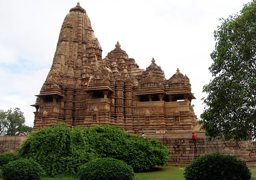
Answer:
[[195, 143], [190, 137], [192, 136], [191, 132], [146, 134], [146, 136], [148, 138], [156, 138], [167, 146], [170, 157], [168, 164], [170, 165], [190, 164], [192, 159], [214, 152], [236, 156], [247, 164], [256, 165], [256, 153], [252, 140], [239, 142], [234, 140], [212, 140], [208, 142], [204, 132], [196, 132], [196, 134], [198, 134], [198, 138]]

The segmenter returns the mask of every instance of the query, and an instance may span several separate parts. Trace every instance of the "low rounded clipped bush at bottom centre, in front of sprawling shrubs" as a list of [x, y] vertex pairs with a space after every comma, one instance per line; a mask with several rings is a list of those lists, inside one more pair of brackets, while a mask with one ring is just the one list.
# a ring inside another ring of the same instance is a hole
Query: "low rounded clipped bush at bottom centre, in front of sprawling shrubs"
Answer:
[[97, 158], [81, 166], [78, 180], [134, 180], [132, 167], [121, 160]]

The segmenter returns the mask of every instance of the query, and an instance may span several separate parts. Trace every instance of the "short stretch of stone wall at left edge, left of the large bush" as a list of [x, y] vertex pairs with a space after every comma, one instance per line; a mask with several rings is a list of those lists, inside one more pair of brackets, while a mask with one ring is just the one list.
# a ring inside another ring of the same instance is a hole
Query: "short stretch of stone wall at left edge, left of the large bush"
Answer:
[[0, 136], [0, 153], [16, 151], [27, 138], [27, 136]]

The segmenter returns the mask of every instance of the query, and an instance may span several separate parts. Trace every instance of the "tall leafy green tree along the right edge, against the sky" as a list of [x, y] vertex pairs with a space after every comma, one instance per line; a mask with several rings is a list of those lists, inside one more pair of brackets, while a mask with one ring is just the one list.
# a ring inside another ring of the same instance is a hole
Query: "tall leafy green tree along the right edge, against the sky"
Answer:
[[221, 20], [199, 122], [210, 139], [256, 138], [256, 0]]

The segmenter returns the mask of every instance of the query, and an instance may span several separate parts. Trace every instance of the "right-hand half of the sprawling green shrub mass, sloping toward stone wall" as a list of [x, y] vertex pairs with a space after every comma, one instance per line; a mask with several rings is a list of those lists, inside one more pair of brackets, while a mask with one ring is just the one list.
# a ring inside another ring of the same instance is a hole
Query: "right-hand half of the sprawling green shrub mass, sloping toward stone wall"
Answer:
[[99, 157], [123, 160], [135, 172], [164, 166], [169, 159], [168, 150], [162, 142], [124, 133], [116, 126], [95, 126], [88, 128], [86, 134], [86, 142]]

